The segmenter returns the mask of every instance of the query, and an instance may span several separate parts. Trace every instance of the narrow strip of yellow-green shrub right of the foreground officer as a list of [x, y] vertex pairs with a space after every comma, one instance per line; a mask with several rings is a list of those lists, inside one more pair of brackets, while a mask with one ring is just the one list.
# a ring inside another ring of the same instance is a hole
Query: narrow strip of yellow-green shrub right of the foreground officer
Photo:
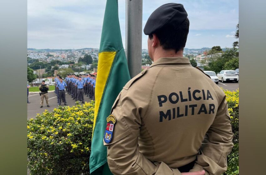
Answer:
[[238, 152], [238, 120], [239, 120], [239, 90], [225, 91], [226, 100], [228, 104], [228, 111], [231, 116], [232, 131], [234, 133], [233, 143], [234, 147], [227, 158], [227, 171], [224, 175], [237, 175], [239, 174], [239, 152]]

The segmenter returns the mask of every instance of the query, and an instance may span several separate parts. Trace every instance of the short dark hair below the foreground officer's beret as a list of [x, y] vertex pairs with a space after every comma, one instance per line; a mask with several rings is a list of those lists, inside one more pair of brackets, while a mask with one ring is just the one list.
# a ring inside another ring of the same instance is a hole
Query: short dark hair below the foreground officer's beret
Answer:
[[[163, 28], [154, 32], [160, 41], [160, 45], [165, 50], [174, 49], [176, 53], [184, 50], [187, 42], [187, 35], [189, 31], [189, 20], [185, 19], [181, 24], [176, 26], [173, 23], [166, 24]], [[153, 35], [150, 34], [152, 39]]]

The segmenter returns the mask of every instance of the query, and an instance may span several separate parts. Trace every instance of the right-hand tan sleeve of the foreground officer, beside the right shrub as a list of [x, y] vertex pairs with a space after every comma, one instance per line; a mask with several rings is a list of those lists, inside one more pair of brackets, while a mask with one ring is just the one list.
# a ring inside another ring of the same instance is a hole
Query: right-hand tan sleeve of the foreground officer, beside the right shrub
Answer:
[[208, 129], [197, 161], [189, 172], [206, 170], [206, 175], [221, 175], [227, 170], [227, 156], [233, 148], [231, 119], [225, 97]]

